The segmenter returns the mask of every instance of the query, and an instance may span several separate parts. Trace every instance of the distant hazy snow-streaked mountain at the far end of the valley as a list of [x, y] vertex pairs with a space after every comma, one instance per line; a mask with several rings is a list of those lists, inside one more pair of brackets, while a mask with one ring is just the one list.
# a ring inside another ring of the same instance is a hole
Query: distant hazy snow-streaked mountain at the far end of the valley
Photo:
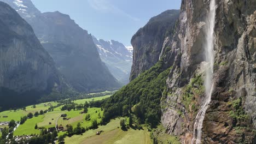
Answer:
[[102, 61], [107, 65], [110, 73], [123, 85], [129, 83], [132, 65], [132, 47], [127, 49], [115, 40], [105, 41], [93, 37]]

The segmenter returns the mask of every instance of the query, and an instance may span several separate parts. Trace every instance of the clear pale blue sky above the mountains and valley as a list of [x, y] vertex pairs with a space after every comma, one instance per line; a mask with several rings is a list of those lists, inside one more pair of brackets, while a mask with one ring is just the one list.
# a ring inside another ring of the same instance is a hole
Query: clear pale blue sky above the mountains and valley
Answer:
[[68, 14], [95, 37], [130, 46], [137, 30], [167, 9], [179, 9], [181, 0], [32, 0], [42, 11]]

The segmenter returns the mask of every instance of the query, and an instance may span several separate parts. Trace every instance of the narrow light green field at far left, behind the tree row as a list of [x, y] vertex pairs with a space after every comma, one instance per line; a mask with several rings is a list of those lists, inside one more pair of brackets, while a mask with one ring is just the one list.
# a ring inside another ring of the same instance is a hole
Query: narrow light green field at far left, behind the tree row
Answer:
[[[44, 104], [46, 104], [46, 106], [44, 106]], [[50, 105], [48, 105], [49, 103], [42, 103], [42, 104], [37, 104], [36, 108], [32, 108], [31, 106], [27, 106], [26, 107], [26, 111], [24, 110], [11, 110], [11, 111], [3, 111], [0, 112], [0, 122], [9, 122], [11, 121], [11, 119], [13, 119], [14, 121], [20, 121], [20, 118], [23, 116], [26, 116], [28, 113], [32, 112], [33, 114], [36, 111], [40, 111], [40, 110], [48, 110]], [[56, 106], [57, 103], [55, 102], [51, 102], [51, 105]], [[3, 116], [8, 116], [7, 118], [4, 118]]]

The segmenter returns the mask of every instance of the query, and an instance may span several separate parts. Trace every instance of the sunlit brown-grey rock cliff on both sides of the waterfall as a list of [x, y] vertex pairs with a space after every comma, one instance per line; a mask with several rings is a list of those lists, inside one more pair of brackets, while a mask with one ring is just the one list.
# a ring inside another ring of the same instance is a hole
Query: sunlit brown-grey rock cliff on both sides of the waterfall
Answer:
[[[205, 97], [203, 33], [208, 1], [182, 1], [179, 28], [170, 43], [180, 51], [162, 96], [161, 122], [167, 133], [193, 137], [195, 117]], [[214, 91], [203, 121], [203, 143], [254, 143], [256, 108], [256, 1], [216, 1]], [[170, 51], [170, 52], [172, 52]], [[167, 52], [169, 53], [169, 52]]]

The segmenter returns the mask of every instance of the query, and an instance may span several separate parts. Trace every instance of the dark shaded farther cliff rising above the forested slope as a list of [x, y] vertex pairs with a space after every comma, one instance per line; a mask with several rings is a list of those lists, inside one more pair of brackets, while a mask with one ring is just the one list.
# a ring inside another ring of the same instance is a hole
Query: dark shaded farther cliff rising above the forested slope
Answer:
[[173, 30], [179, 17], [179, 10], [167, 10], [153, 17], [146, 26], [133, 35], [133, 63], [130, 80], [159, 61], [165, 40], [172, 39]]

